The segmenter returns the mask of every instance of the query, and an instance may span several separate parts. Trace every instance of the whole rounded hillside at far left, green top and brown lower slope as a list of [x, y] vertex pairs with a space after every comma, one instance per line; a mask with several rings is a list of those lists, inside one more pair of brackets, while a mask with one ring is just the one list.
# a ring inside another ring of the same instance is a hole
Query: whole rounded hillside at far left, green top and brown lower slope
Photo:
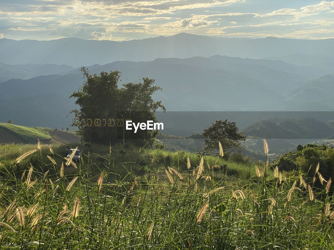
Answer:
[[36, 143], [51, 141], [51, 136], [34, 128], [19, 126], [9, 123], [0, 123], [0, 143], [7, 143], [8, 140], [22, 141], [23, 143]]

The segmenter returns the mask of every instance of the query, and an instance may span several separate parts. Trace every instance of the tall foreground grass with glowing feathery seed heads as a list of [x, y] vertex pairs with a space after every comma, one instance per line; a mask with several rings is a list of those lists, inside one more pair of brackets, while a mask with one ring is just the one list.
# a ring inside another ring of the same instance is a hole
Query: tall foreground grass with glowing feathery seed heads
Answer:
[[326, 182], [185, 152], [82, 149], [66, 166], [60, 145], [0, 148], [0, 249], [334, 248]]

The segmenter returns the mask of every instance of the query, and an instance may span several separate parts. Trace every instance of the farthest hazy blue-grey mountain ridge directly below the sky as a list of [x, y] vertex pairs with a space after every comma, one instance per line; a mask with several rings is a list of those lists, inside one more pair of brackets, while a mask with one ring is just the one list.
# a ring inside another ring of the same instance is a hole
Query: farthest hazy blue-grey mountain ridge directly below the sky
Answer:
[[[78, 67], [118, 60], [152, 61], [156, 58], [210, 57], [216, 54], [255, 59], [301, 54], [309, 58], [316, 56], [333, 60], [333, 45], [334, 39], [222, 38], [187, 33], [122, 42], [78, 38], [50, 41], [2, 38], [0, 61], [6, 64], [48, 63]], [[320, 60], [319, 63], [323, 62]]]

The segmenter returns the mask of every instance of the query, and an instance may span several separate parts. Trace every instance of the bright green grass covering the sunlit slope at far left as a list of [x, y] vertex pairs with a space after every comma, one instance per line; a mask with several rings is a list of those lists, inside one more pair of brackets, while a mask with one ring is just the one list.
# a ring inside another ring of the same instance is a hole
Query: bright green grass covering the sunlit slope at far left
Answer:
[[41, 132], [40, 129], [28, 128], [8, 123], [0, 123], [0, 128], [8, 131], [12, 136], [17, 137], [23, 143], [35, 143], [37, 139], [43, 142], [51, 141], [51, 136]]

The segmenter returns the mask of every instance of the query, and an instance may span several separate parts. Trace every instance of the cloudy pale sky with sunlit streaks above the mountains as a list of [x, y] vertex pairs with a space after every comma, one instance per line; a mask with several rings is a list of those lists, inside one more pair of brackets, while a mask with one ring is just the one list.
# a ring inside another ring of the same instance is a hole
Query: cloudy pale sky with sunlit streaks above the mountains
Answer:
[[0, 38], [123, 41], [181, 32], [334, 38], [334, 1], [0, 0]]

